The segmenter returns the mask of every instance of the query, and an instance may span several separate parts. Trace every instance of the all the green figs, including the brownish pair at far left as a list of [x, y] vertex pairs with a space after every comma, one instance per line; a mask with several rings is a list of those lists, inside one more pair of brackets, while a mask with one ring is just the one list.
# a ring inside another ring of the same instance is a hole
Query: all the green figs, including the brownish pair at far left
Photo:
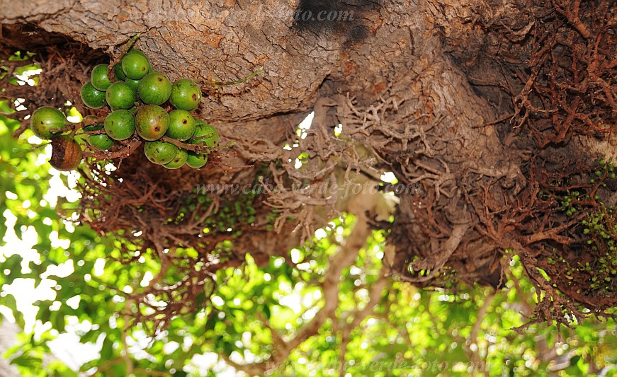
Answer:
[[[202, 168], [208, 163], [208, 152], [218, 146], [217, 130], [191, 115], [201, 100], [199, 86], [189, 79], [172, 84], [164, 74], [152, 70], [140, 50], [130, 49], [111, 70], [108, 64], [95, 66], [80, 95], [91, 109], [108, 106], [111, 110], [104, 122], [84, 126], [88, 143], [99, 151], [107, 151], [115, 141], [130, 139], [136, 133], [145, 141], [145, 155], [152, 163], [169, 169], [185, 164]], [[52, 140], [52, 166], [58, 170], [79, 166], [83, 151], [72, 135], [63, 134], [71, 126], [62, 111], [38, 108], [30, 117], [30, 128], [41, 139]]]

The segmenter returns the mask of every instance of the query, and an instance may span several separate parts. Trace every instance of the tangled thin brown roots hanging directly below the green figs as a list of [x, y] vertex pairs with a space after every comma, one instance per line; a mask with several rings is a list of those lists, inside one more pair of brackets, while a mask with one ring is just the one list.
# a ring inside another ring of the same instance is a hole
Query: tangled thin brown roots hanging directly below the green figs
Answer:
[[[120, 262], [149, 256], [161, 264], [159, 275], [133, 297], [154, 312], [137, 312], [137, 318], [163, 326], [173, 315], [205, 303], [218, 269], [239, 267], [246, 253], [267, 264], [269, 252], [286, 250], [254, 246], [265, 244], [276, 217], [264, 205], [267, 195], [255, 182], [258, 171], [245, 168], [225, 186], [219, 183], [226, 180], [220, 161], [215, 154], [200, 170], [168, 170], [149, 163], [140, 147], [120, 168], [91, 162], [81, 171], [81, 221], [117, 240], [113, 255]], [[164, 306], [147, 298], [152, 294]]]

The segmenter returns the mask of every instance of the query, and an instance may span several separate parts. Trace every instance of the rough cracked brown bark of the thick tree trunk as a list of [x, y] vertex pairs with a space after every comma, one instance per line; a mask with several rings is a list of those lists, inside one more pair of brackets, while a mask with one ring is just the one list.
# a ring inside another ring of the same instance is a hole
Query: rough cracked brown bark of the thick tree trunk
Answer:
[[[225, 141], [236, 143], [236, 154], [227, 158], [230, 166], [280, 161], [269, 166], [274, 178], [314, 187], [346, 183], [354, 169], [373, 178], [380, 171], [394, 171], [403, 184], [416, 189], [400, 195], [395, 222], [386, 225], [395, 245], [387, 262], [403, 279], [430, 285], [455, 276], [501, 286], [502, 265], [508, 262], [504, 250], [513, 248], [536, 288], [555, 296], [540, 305], [543, 317], [562, 309], [580, 314], [572, 301], [594, 310], [613, 306], [614, 295], [594, 300], [593, 291], [577, 293], [583, 282], [574, 287], [548, 284], [535, 269], [548, 245], [578, 255], [569, 245], [580, 240], [581, 229], [566, 235], [563, 231], [576, 228], [574, 223], [584, 218], [554, 218], [553, 206], [543, 210], [543, 219], [535, 219], [536, 173], [553, 174], [564, 161], [582, 166], [601, 153], [617, 156], [611, 144], [614, 131], [591, 136], [570, 132], [565, 138], [565, 132], [557, 130], [561, 139], [546, 138], [543, 144], [531, 137], [531, 128], [510, 122], [521, 118], [516, 111], [521, 112], [525, 98], [516, 95], [526, 87], [514, 83], [517, 76], [511, 72], [516, 69], [506, 74], [500, 64], [505, 58], [495, 52], [496, 46], [531, 39], [540, 23], [534, 9], [550, 5], [532, 2], [526, 12], [523, 1], [331, 3], [0, 0], [0, 23], [4, 45], [33, 49], [42, 42], [24, 36], [47, 33], [48, 42], [62, 36], [112, 57], [118, 56], [117, 47], [141, 33], [137, 47], [157, 70], [172, 80], [191, 77], [200, 82], [205, 99], [198, 115], [214, 124]], [[581, 13], [579, 18], [571, 10], [580, 1], [565, 3], [550, 8], [555, 15], [551, 20], [569, 27], [568, 33], [576, 34], [572, 38], [587, 40], [593, 32], [598, 45], [604, 45], [606, 40], [596, 33], [601, 29], [594, 23], [596, 13]], [[353, 11], [353, 20], [295, 21], [298, 9]], [[602, 21], [604, 27], [614, 26], [612, 17]], [[528, 23], [519, 25], [523, 21]], [[495, 30], [509, 30], [520, 40], [506, 40]], [[602, 48], [599, 64], [614, 73], [614, 55]], [[219, 91], [211, 86], [212, 79], [240, 79], [259, 66], [263, 71], [249, 83]], [[604, 88], [604, 102], [613, 104], [603, 118], [611, 122], [615, 98], [610, 75], [600, 75], [596, 83]], [[502, 90], [507, 86], [509, 93]], [[68, 92], [64, 94], [76, 98], [75, 88]], [[298, 141], [299, 149], [283, 150], [285, 143], [294, 144], [295, 127], [311, 110], [315, 117], [309, 136]], [[335, 137], [339, 123], [343, 133]], [[296, 170], [299, 151], [309, 159]], [[612, 190], [609, 184], [594, 193], [610, 205], [616, 200]], [[281, 211], [279, 230], [288, 226], [298, 238], [307, 236], [338, 209], [349, 209], [349, 198], [340, 192], [338, 197], [336, 192], [322, 194], [289, 187], [272, 193], [268, 204]], [[287, 217], [293, 220], [285, 224]], [[375, 221], [375, 226], [381, 224]], [[261, 248], [264, 255], [281, 253], [271, 249], [285, 248], [288, 233], [279, 233], [278, 240], [268, 242], [268, 250], [259, 241], [244, 240], [238, 245], [245, 250], [239, 252]], [[565, 290], [565, 298], [557, 298], [557, 289]]]

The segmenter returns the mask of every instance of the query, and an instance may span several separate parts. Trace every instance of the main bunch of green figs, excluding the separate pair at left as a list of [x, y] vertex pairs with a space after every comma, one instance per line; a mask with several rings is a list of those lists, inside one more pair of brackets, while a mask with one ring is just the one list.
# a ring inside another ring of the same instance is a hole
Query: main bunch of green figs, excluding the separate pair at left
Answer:
[[[86, 131], [105, 129], [105, 133], [91, 134], [88, 142], [106, 151], [113, 141], [129, 139], [135, 132], [145, 141], [144, 151], [149, 161], [177, 169], [186, 165], [201, 168], [208, 162], [208, 153], [187, 151], [169, 141], [169, 137], [186, 144], [218, 146], [217, 130], [191, 115], [201, 100], [199, 86], [189, 79], [173, 84], [161, 72], [153, 71], [148, 57], [131, 49], [119, 64], [113, 66], [114, 80], [108, 76], [108, 64], [92, 70], [90, 81], [81, 87], [81, 100], [92, 109], [109, 106], [111, 113], [103, 124]], [[162, 107], [169, 101], [174, 108]]]

